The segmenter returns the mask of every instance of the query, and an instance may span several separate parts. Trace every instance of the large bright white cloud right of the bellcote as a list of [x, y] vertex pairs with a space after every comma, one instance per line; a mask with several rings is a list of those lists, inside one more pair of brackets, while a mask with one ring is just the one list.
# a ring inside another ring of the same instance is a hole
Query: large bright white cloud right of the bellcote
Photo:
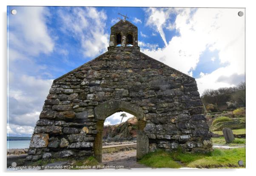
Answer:
[[192, 74], [202, 52], [206, 49], [218, 50], [220, 62], [228, 64], [212, 73], [200, 74], [201, 77], [196, 79], [199, 92], [202, 93], [205, 88], [232, 86], [217, 80], [223, 75], [230, 77], [245, 73], [245, 19], [237, 15], [243, 9], [199, 8], [191, 15], [190, 8], [175, 8], [175, 28], [180, 35], [167, 42], [162, 29], [169, 25], [167, 18], [170, 11], [156, 8], [146, 11], [149, 16], [148, 25], [155, 27], [166, 46], [142, 52], [185, 74]]

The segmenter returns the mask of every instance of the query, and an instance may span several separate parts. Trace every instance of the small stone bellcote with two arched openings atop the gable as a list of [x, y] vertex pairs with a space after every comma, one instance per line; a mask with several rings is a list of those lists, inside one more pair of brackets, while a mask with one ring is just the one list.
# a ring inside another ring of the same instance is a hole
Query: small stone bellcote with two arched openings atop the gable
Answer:
[[111, 27], [109, 47], [138, 47], [138, 28], [127, 20], [120, 20]]

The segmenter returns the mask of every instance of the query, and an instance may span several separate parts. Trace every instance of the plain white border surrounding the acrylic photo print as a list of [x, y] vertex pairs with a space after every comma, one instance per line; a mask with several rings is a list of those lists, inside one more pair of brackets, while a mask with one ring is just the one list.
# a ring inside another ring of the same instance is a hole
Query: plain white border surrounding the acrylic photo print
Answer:
[[[61, 170], [64, 175], [70, 175], [70, 173], [78, 174], [82, 173], [83, 175], [87, 173], [83, 172], [94, 172], [91, 174], [106, 174], [110, 172], [111, 175], [120, 175], [120, 172], [125, 172], [122, 174], [131, 175], [134, 172], [139, 172], [141, 174], [154, 174], [156, 172], [171, 172], [171, 173], [161, 173], [161, 174], [188, 174], [188, 175], [207, 175], [211, 176], [216, 174], [230, 174], [230, 175], [246, 175], [250, 174], [256, 168], [254, 166], [254, 156], [255, 156], [255, 124], [256, 124], [256, 115], [253, 114], [253, 109], [255, 109], [255, 86], [254, 86], [254, 70], [255, 70], [255, 17], [256, 17], [256, 6], [253, 4], [253, 0], [176, 0], [176, 1], [167, 1], [167, 0], [1, 0], [0, 9], [1, 9], [1, 91], [0, 91], [0, 108], [1, 108], [1, 127], [2, 127], [2, 135], [0, 141], [2, 142], [2, 151], [1, 151], [1, 170], [2, 172], [6, 172], [6, 108], [7, 108], [7, 48], [6, 48], [6, 9], [7, 5], [47, 5], [47, 6], [147, 6], [147, 7], [228, 7], [228, 8], [246, 8], [246, 98], [247, 98], [247, 126], [246, 126], [246, 169], [201, 169], [201, 170]], [[254, 55], [253, 55], [254, 54]], [[44, 171], [46, 172], [46, 171]], [[48, 172], [57, 172], [57, 170], [47, 171]], [[104, 173], [102, 173], [104, 172]], [[131, 173], [132, 172], [132, 173]], [[11, 173], [14, 174], [14, 173]], [[34, 173], [17, 173], [21, 175], [33, 175]], [[37, 171], [37, 175], [46, 175], [46, 173], [42, 173], [41, 171]]]

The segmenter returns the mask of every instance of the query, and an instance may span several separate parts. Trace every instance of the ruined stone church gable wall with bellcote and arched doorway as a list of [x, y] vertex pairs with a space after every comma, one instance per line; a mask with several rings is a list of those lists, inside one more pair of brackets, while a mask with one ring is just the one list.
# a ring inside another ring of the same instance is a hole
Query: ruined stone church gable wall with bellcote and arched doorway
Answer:
[[101, 162], [105, 118], [120, 111], [137, 117], [137, 159], [157, 148], [211, 150], [195, 79], [140, 52], [137, 27], [120, 20], [107, 52], [53, 81], [26, 160]]

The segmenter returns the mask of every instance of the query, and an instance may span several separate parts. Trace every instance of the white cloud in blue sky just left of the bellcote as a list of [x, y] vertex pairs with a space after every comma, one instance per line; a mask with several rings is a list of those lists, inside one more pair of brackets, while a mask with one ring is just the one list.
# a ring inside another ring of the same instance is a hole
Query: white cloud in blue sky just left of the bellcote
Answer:
[[65, 7], [58, 13], [63, 32], [80, 41], [85, 57], [94, 57], [107, 51], [109, 35], [105, 31], [105, 11], [97, 11], [94, 7]]

